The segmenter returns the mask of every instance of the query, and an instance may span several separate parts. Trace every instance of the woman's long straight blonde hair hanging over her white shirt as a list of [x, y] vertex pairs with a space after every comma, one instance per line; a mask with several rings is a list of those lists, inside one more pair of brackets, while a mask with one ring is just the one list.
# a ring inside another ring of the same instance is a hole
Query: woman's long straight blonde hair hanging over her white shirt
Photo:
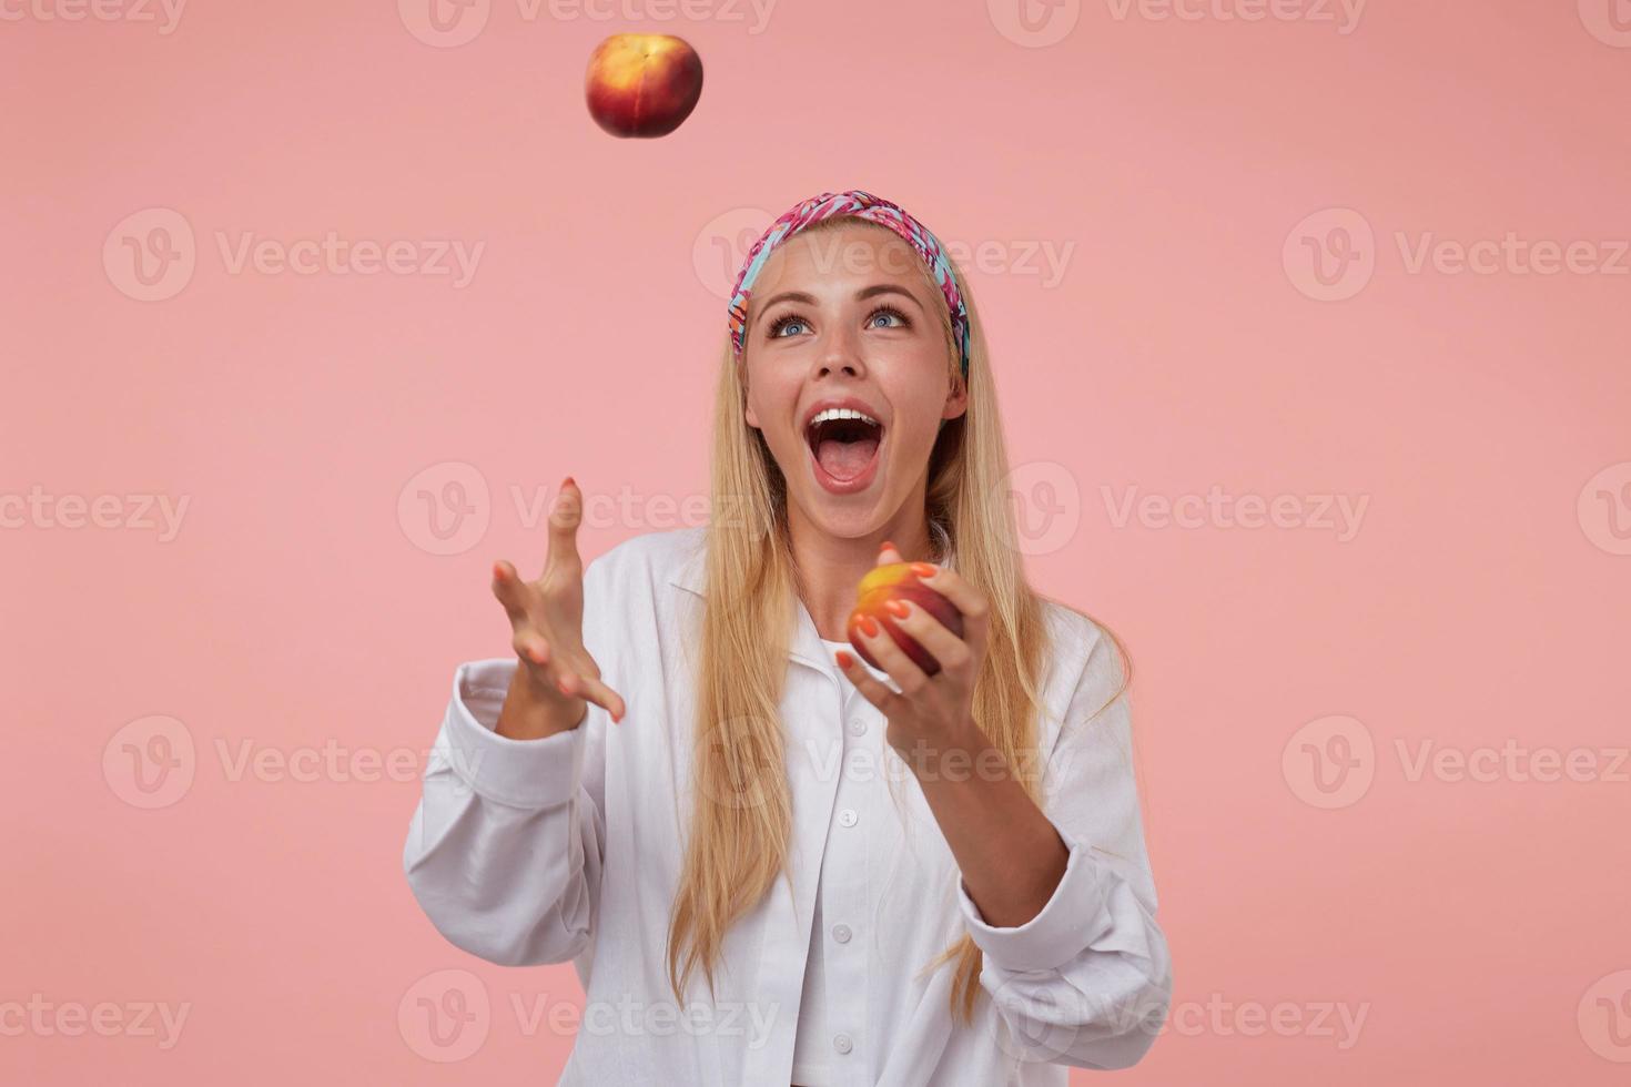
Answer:
[[[846, 225], [887, 230], [835, 217], [801, 233]], [[948, 373], [961, 383], [949, 310], [928, 269], [917, 264], [930, 297], [941, 300]], [[1019, 562], [1008, 455], [974, 295], [962, 274], [954, 269], [954, 275], [969, 310], [969, 401], [930, 453], [925, 512], [949, 536], [957, 574], [990, 600], [990, 640], [974, 689], [974, 717], [1041, 803], [1036, 743], [1039, 675], [1049, 647], [1044, 608]], [[667, 968], [677, 999], [698, 966], [713, 986], [726, 931], [788, 870], [793, 799], [778, 706], [799, 582], [788, 544], [786, 481], [763, 435], [747, 425], [745, 376], [726, 337], [714, 393], [714, 517], [706, 536], [696, 662], [695, 805], [669, 924]], [[972, 1022], [980, 948], [964, 934], [928, 966], [949, 960], [957, 963], [951, 1010]]]

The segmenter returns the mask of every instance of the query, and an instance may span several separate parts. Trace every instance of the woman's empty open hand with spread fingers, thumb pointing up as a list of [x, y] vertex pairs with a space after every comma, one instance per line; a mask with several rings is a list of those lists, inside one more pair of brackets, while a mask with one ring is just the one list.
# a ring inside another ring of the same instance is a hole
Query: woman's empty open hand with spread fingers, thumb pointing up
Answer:
[[582, 510], [582, 491], [568, 476], [550, 510], [550, 552], [538, 580], [524, 582], [504, 559], [493, 564], [493, 595], [509, 614], [520, 658], [499, 712], [501, 737], [535, 740], [576, 728], [587, 702], [623, 719], [623, 699], [600, 681], [600, 667], [584, 649]]

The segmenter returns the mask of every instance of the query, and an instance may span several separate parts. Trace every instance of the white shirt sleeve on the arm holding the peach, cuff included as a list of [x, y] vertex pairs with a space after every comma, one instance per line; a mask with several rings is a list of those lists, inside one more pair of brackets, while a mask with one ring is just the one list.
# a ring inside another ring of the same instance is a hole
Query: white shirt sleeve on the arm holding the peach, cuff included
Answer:
[[985, 953], [980, 984], [1008, 1028], [1005, 1050], [1023, 1061], [1119, 1069], [1155, 1043], [1173, 973], [1155, 919], [1127, 699], [1109, 701], [1120, 662], [1096, 626], [1083, 637], [1091, 649], [1044, 774], [1044, 813], [1070, 849], [1065, 875], [1018, 927], [985, 924], [962, 880], [957, 900]]

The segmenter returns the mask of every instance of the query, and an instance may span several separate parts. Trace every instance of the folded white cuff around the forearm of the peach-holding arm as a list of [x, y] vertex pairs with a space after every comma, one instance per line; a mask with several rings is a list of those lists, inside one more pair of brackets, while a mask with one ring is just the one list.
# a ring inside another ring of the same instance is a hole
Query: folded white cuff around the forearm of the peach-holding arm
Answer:
[[1086, 950], [1106, 927], [1107, 901], [1099, 875], [1088, 847], [1072, 843], [1059, 887], [1042, 911], [1024, 924], [1013, 929], [985, 924], [961, 877], [957, 904], [969, 935], [993, 965], [1003, 970], [1057, 970]]

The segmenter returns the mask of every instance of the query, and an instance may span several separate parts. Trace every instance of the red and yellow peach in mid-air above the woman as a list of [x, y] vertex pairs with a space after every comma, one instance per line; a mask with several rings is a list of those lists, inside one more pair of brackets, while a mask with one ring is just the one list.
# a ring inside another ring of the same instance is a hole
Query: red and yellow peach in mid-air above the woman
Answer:
[[584, 93], [612, 135], [667, 135], [703, 96], [703, 59], [674, 34], [612, 34], [589, 57]]

